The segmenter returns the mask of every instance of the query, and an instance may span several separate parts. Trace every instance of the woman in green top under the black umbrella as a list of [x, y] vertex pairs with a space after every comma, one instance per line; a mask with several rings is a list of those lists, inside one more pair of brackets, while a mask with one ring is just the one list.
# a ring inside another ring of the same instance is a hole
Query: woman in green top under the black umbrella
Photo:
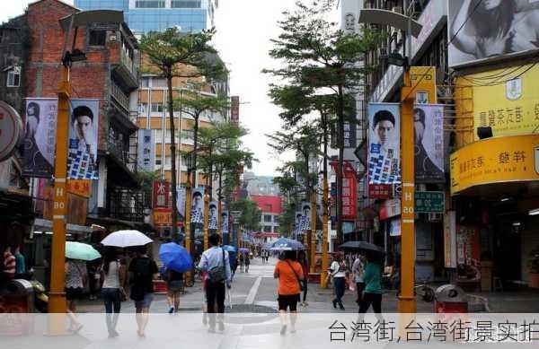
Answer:
[[382, 263], [378, 259], [380, 258], [375, 255], [367, 255], [367, 264], [363, 274], [365, 291], [363, 292], [363, 298], [359, 306], [358, 319], [361, 321], [363, 321], [365, 313], [371, 305], [373, 306], [376, 318], [378, 320], [384, 320], [382, 317]]

